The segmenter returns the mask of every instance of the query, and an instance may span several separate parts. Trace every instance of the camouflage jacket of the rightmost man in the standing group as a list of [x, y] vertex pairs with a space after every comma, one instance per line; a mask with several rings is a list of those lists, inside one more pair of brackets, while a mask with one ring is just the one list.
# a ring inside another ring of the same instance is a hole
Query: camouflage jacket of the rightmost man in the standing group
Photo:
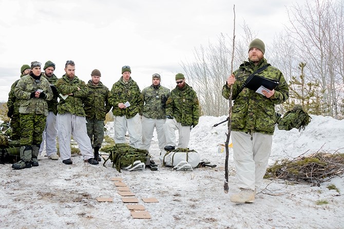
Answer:
[[166, 115], [174, 116], [182, 126], [196, 126], [199, 119], [199, 102], [194, 89], [185, 84], [176, 86], [166, 102]]

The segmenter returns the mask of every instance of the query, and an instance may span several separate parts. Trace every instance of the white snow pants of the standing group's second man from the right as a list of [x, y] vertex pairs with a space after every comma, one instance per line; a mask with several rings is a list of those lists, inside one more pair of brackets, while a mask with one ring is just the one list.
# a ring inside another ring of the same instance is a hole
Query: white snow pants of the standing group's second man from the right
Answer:
[[151, 139], [153, 137], [154, 128], [157, 131], [159, 149], [164, 150], [166, 145], [164, 124], [166, 119], [152, 119], [142, 116], [142, 149], [149, 150]]

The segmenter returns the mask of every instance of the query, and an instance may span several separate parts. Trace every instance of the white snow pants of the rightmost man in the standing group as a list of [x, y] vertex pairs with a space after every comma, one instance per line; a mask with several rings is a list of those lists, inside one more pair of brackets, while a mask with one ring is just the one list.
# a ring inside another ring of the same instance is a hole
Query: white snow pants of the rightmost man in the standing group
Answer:
[[175, 131], [178, 129], [179, 133], [179, 142], [177, 148], [187, 148], [190, 140], [190, 127], [182, 126], [180, 122], [177, 122], [176, 119], [166, 118], [164, 124], [165, 136], [166, 136], [166, 145], [176, 146], [176, 134]]

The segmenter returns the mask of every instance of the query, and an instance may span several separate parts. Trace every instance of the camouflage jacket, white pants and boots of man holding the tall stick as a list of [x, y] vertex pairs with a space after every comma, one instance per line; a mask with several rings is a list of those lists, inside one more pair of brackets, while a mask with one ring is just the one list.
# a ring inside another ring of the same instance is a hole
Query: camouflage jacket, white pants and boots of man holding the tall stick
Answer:
[[[232, 98], [235, 101], [232, 109], [231, 138], [237, 184], [242, 192], [250, 193], [250, 195], [253, 193], [253, 196], [263, 181], [271, 154], [276, 120], [275, 104], [284, 102], [289, 96], [288, 85], [283, 74], [272, 66], [257, 74], [279, 82], [272, 97], [267, 98], [251, 89], [243, 88], [245, 80], [266, 64], [265, 58], [256, 66], [251, 60], [244, 61], [233, 73], [236, 81], [232, 85]], [[230, 87], [227, 84], [222, 88], [222, 95], [226, 99], [229, 98]], [[239, 196], [240, 194], [231, 196], [231, 201], [236, 201]]]

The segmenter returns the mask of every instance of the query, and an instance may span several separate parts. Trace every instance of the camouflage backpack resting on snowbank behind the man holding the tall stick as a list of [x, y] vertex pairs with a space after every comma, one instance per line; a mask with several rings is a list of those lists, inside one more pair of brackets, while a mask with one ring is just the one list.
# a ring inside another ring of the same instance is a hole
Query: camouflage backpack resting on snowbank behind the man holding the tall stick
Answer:
[[304, 128], [311, 122], [311, 117], [304, 112], [301, 105], [295, 105], [291, 111], [286, 112], [278, 122], [278, 129], [289, 131], [293, 128]]

